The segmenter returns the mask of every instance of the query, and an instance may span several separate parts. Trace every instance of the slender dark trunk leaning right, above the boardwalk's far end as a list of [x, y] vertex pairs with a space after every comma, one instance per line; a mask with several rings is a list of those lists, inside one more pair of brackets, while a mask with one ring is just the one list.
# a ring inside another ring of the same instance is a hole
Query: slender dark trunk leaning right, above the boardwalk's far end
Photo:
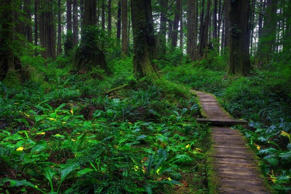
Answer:
[[209, 29], [209, 22], [210, 22], [210, 0], [207, 0], [207, 8], [206, 8], [206, 16], [204, 22], [202, 24], [202, 32], [200, 37], [200, 44], [199, 44], [199, 56], [204, 57], [205, 49], [208, 47], [208, 29]]

